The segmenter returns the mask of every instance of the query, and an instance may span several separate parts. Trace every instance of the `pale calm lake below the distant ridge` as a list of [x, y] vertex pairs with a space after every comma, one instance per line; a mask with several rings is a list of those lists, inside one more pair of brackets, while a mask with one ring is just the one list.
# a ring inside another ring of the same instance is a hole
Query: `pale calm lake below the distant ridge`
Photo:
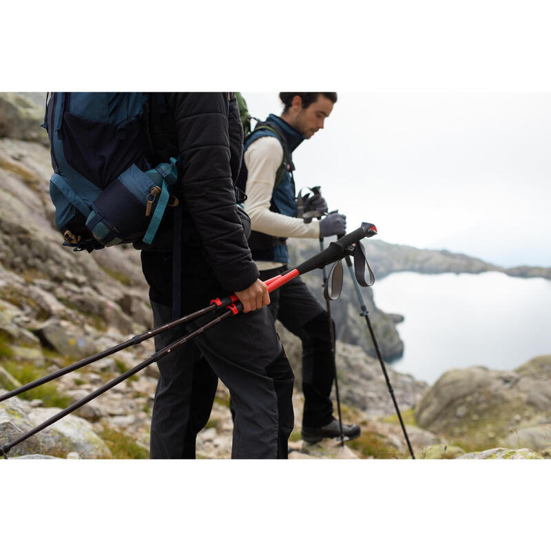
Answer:
[[400, 272], [377, 280], [373, 294], [380, 309], [405, 316], [393, 368], [429, 384], [450, 368], [514, 369], [551, 353], [550, 280]]

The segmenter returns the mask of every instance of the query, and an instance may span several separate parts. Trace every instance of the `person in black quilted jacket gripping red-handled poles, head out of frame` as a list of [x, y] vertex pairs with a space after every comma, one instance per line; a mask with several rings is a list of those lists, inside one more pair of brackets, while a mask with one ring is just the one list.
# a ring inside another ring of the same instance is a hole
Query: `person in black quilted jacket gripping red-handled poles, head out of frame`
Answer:
[[[159, 360], [150, 455], [195, 457], [196, 435], [209, 419], [220, 377], [236, 410], [231, 457], [287, 458], [293, 373], [271, 315], [262, 308], [269, 304], [267, 287], [258, 279], [247, 245], [249, 218], [236, 205], [233, 180], [243, 134], [235, 95], [165, 93], [158, 99], [150, 103], [148, 134], [154, 156], [178, 158], [178, 186], [171, 193], [179, 205], [168, 209], [152, 245], [135, 245], [142, 249], [154, 324], [173, 318], [175, 242], [181, 251], [181, 297], [174, 308], [180, 306], [185, 314], [236, 293], [245, 313]], [[175, 232], [178, 209], [181, 229]], [[155, 337], [156, 349], [214, 317], [161, 333]]]

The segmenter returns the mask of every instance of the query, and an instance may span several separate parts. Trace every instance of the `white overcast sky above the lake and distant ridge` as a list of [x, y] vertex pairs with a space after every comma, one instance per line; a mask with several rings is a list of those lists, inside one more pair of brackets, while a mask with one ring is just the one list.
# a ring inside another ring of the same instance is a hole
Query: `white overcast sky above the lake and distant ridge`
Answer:
[[[551, 266], [551, 94], [338, 93], [293, 155], [297, 191], [321, 185], [388, 242]], [[278, 92], [242, 94], [281, 112]]]

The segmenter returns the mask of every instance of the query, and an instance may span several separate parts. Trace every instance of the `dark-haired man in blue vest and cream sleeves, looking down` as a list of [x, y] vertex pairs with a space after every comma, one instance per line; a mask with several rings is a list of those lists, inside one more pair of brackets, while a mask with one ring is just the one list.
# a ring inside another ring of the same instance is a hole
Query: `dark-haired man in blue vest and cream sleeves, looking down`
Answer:
[[[238, 187], [247, 194], [244, 207], [253, 229], [249, 247], [262, 280], [288, 269], [287, 238], [317, 239], [344, 233], [346, 229], [346, 216], [336, 212], [308, 224], [297, 218], [293, 180], [294, 149], [324, 127], [337, 94], [281, 92], [280, 99], [284, 104], [281, 116], [271, 114], [245, 139], [244, 163], [238, 178]], [[319, 194], [304, 201], [304, 211], [326, 209], [326, 202]], [[333, 359], [328, 315], [300, 278], [271, 293], [270, 298], [274, 320], [280, 320], [302, 340], [302, 438], [315, 442], [337, 437], [339, 422], [333, 417], [330, 398]], [[342, 431], [349, 438], [360, 435], [357, 425], [343, 424]]]

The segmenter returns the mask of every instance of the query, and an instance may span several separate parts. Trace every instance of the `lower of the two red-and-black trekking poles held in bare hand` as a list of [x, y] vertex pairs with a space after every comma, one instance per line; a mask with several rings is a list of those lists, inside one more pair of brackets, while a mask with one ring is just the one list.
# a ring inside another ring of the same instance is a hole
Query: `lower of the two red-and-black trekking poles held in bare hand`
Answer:
[[[370, 224], [362, 224], [361, 227], [356, 229], [355, 231], [347, 234], [342, 239], [337, 240], [335, 242], [332, 242], [327, 249], [324, 251], [321, 251], [317, 255], [313, 256], [312, 258], [309, 258], [305, 262], [302, 262], [298, 267], [291, 269], [287, 272], [284, 272], [280, 275], [275, 276], [275, 278], [271, 278], [265, 282], [268, 287], [268, 292], [271, 292], [275, 289], [278, 289], [278, 287], [281, 287], [285, 283], [291, 281], [292, 279], [296, 278], [298, 275], [301, 275], [303, 273], [312, 271], [315, 268], [322, 268], [326, 264], [329, 264], [330, 262], [335, 262], [336, 260], [341, 260], [344, 258], [344, 256], [351, 254], [351, 251], [353, 250], [353, 245], [355, 245], [355, 242], [359, 242], [364, 237], [371, 237], [377, 233], [375, 226]], [[128, 377], [132, 377], [132, 375], [138, 373], [138, 371], [141, 371], [143, 368], [147, 367], [149, 364], [152, 364], [153, 362], [156, 362], [161, 357], [167, 355], [171, 351], [174, 351], [179, 346], [182, 346], [186, 342], [189, 342], [189, 340], [194, 339], [201, 333], [204, 333], [207, 331], [207, 329], [210, 329], [214, 325], [220, 323], [222, 320], [225, 320], [226, 318], [230, 318], [232, 315], [236, 315], [240, 313], [243, 309], [243, 305], [241, 302], [239, 302], [236, 295], [230, 295], [228, 298], [225, 299], [214, 299], [211, 301], [211, 306], [214, 305], [218, 308], [220, 307], [220, 304], [225, 304], [230, 301], [230, 304], [226, 306], [227, 311], [225, 313], [222, 313], [217, 318], [214, 318], [214, 320], [211, 320], [204, 326], [199, 327], [196, 329], [196, 331], [193, 331], [192, 333], [189, 333], [189, 335], [185, 335], [184, 337], [181, 337], [180, 339], [172, 342], [168, 346], [165, 346], [164, 349], [152, 354], [147, 360], [144, 360], [141, 362], [141, 364], [138, 364], [137, 366], [134, 366], [133, 368], [130, 368], [128, 371], [125, 371], [125, 373], [122, 373], [118, 377], [116, 377], [114, 380], [108, 382], [107, 384], [101, 386], [101, 388], [96, 389], [96, 391], [90, 393], [89, 395], [83, 397], [78, 402], [75, 402], [71, 406], [68, 406], [64, 410], [60, 411], [59, 413], [56, 413], [56, 415], [53, 415], [50, 417], [50, 419], [46, 419], [43, 423], [41, 423], [39, 426], [33, 428], [32, 430], [29, 430], [27, 433], [21, 435], [21, 437], [15, 439], [14, 441], [10, 442], [9, 444], [6, 444], [6, 446], [0, 446], [0, 455], [2, 455], [5, 459], [8, 459], [8, 453], [9, 451], [14, 447], [17, 446], [17, 444], [21, 444], [22, 441], [30, 438], [31, 436], [39, 433], [44, 428], [47, 428], [51, 424], [54, 424], [56, 421], [59, 421], [59, 419], [62, 419], [65, 417], [65, 415], [69, 415], [74, 410], [80, 408], [84, 404], [87, 404], [92, 399], [98, 397], [99, 395], [105, 393], [106, 391], [110, 390], [110, 388], [113, 388], [120, 382], [123, 382]], [[216, 308], [211, 308], [211, 306], [207, 306], [207, 309], [209, 311], [212, 311]], [[194, 318], [197, 317], [197, 315], [200, 315], [198, 313], [190, 314], [193, 315]], [[189, 316], [187, 316], [189, 318]], [[178, 320], [176, 320], [178, 321]], [[174, 323], [171, 322], [170, 324], [166, 324], [166, 326], [161, 326], [158, 329], [162, 329], [163, 331], [166, 331], [169, 329], [169, 326], [174, 326]], [[173, 325], [171, 325], [173, 324]], [[160, 333], [160, 331], [158, 331]], [[119, 345], [120, 346], [120, 345]], [[116, 347], [115, 347], [116, 348]]]

